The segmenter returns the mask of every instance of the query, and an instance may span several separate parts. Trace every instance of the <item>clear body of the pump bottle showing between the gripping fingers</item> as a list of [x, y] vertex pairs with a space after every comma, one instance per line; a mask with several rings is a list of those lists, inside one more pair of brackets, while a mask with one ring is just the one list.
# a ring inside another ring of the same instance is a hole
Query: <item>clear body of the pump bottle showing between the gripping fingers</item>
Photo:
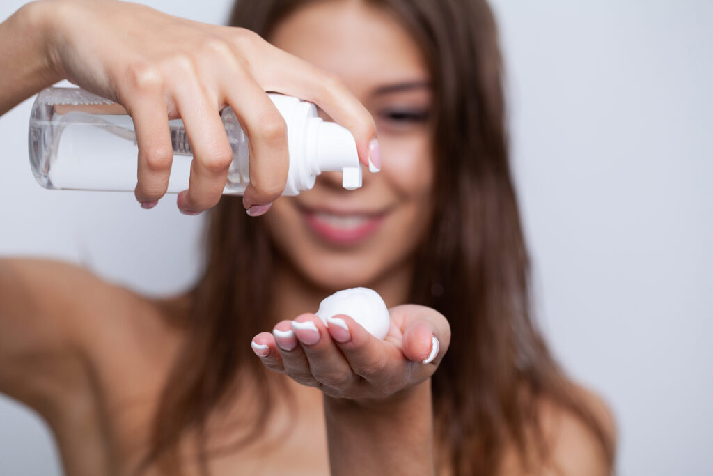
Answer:
[[[233, 161], [223, 193], [242, 194], [250, 180], [248, 143], [232, 109], [222, 114]], [[193, 153], [183, 121], [168, 121], [173, 164], [168, 193], [188, 188]], [[78, 88], [47, 88], [29, 123], [30, 163], [45, 188], [133, 191], [138, 145], [133, 121], [118, 103]]]

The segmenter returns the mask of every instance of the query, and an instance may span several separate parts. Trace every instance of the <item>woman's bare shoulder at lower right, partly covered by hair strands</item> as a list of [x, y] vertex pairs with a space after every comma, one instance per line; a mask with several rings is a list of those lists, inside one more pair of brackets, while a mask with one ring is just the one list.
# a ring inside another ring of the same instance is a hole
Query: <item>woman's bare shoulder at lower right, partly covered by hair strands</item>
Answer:
[[[611, 448], [616, 446], [615, 417], [607, 402], [593, 390], [573, 384], [573, 395], [579, 404], [590, 413], [604, 433]], [[534, 432], [528, 432], [529, 457], [538, 468], [533, 474], [538, 475], [578, 475], [609, 476], [614, 468], [607, 456], [607, 450], [593, 428], [579, 415], [558, 402], [550, 399], [540, 400], [537, 404], [541, 435], [548, 448], [548, 457], [540, 461], [535, 455], [538, 441]], [[514, 447], [508, 448], [503, 460], [503, 475], [530, 474], [523, 470]]]

